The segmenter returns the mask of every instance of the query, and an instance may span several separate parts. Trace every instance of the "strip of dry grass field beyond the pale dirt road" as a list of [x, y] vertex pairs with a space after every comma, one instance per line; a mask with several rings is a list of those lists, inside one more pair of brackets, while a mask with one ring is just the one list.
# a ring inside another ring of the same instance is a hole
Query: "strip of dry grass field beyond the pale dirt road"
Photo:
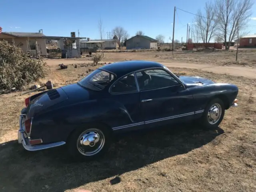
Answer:
[[[132, 52], [134, 51], [134, 52]], [[134, 60], [154, 60], [157, 62], [186, 62], [198, 64], [212, 64], [212, 65], [244, 65], [256, 67], [256, 49], [244, 50], [240, 49], [238, 54], [238, 62], [235, 62], [235, 50], [211, 50], [205, 51], [156, 51], [156, 50], [122, 50], [120, 52], [106, 52], [104, 60], [120, 61], [125, 59]], [[79, 59], [78, 59], [79, 60]]]

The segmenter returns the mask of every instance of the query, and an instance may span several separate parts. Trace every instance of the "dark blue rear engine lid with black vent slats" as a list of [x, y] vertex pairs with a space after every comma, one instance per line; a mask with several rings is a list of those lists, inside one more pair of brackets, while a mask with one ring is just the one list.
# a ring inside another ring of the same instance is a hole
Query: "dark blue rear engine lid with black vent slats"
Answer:
[[91, 98], [90, 96], [92, 96], [90, 91], [78, 84], [51, 89], [30, 102], [27, 108], [27, 116], [30, 118], [49, 109], [86, 101]]

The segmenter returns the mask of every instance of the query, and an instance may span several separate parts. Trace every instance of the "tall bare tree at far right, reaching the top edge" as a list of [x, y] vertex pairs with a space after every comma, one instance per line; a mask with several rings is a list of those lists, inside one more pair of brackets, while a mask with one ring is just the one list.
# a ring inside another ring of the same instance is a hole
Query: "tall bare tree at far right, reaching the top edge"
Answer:
[[230, 48], [237, 30], [246, 28], [251, 16], [252, 0], [215, 0], [218, 16], [218, 37], [222, 38], [225, 49]]

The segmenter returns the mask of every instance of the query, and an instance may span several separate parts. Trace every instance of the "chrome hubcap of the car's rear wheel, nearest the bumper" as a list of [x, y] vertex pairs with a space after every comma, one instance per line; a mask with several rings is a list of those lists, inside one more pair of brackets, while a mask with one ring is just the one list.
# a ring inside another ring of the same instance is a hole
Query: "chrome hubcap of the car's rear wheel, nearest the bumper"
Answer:
[[105, 144], [104, 134], [98, 129], [88, 129], [77, 140], [78, 151], [84, 156], [92, 156], [100, 152]]

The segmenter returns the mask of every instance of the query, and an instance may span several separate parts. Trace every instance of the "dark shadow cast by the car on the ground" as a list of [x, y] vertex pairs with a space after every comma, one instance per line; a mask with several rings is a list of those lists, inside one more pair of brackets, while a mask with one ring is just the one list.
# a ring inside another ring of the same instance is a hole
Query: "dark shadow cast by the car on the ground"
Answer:
[[[64, 191], [110, 178], [165, 158], [185, 154], [223, 134], [221, 128], [204, 130], [194, 125], [176, 125], [119, 137], [108, 154], [91, 162], [70, 162], [64, 146], [28, 152], [17, 140], [0, 144], [0, 190]], [[114, 177], [114, 179], [113, 179]]]

